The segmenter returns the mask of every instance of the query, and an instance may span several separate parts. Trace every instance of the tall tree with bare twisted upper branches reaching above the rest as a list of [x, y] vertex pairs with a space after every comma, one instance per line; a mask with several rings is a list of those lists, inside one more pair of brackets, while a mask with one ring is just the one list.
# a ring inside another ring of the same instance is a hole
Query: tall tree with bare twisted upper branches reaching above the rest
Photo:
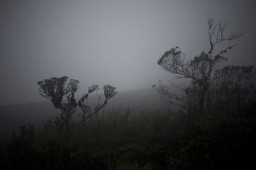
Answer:
[[185, 93], [182, 97], [170, 92], [168, 86], [162, 84], [161, 81], [157, 86], [153, 85], [160, 94], [165, 96], [169, 103], [186, 109], [194, 105], [200, 112], [211, 104], [212, 75], [220, 67], [221, 63], [228, 60], [224, 54], [237, 44], [225, 47], [219, 52], [213, 52], [216, 49], [215, 46], [224, 41], [234, 41], [244, 34], [244, 32], [236, 32], [226, 36], [225, 30], [228, 24], [223, 22], [215, 23], [213, 18], [208, 19], [210, 50], [208, 52], [203, 51], [200, 55], [195, 56], [194, 59], [186, 59], [179, 47], [171, 48], [160, 57], [158, 65], [164, 70], [175, 74], [176, 79], [191, 79], [189, 87], [186, 89], [179, 88]]

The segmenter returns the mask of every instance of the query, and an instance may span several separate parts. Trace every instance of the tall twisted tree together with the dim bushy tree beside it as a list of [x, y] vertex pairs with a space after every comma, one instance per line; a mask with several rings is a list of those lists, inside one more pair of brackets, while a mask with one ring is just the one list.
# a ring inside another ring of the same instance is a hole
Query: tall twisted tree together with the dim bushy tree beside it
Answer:
[[181, 49], [175, 47], [165, 52], [158, 60], [158, 65], [175, 74], [176, 79], [190, 79], [190, 85], [186, 89], [178, 87], [184, 92], [182, 96], [173, 94], [161, 81], [153, 87], [164, 96], [165, 101], [184, 108], [190, 114], [203, 113], [218, 107], [221, 97], [227, 100], [235, 98], [229, 100], [229, 103], [239, 106], [254, 87], [252, 85], [252, 79], [255, 78], [253, 66], [228, 66], [218, 70], [220, 65], [228, 60], [224, 54], [237, 44], [228, 46], [220, 52], [215, 52], [215, 46], [225, 41], [232, 42], [244, 33], [237, 32], [226, 36], [224, 31], [228, 23], [216, 24], [213, 18], [208, 19], [208, 26], [210, 39], [208, 52], [203, 51], [194, 59], [188, 60], [182, 54]]

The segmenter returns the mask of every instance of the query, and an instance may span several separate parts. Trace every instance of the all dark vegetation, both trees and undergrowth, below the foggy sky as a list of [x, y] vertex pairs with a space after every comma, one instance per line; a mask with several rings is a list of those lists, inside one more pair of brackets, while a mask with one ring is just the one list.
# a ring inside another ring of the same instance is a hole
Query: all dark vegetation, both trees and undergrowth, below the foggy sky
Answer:
[[223, 65], [244, 34], [226, 33], [227, 26], [209, 18], [208, 51], [189, 60], [173, 47], [158, 60], [177, 80], [189, 81], [186, 88], [174, 85], [179, 93], [162, 81], [153, 85], [173, 111], [106, 110], [116, 87], [103, 86], [104, 97], [89, 105], [89, 95], [100, 90], [96, 84], [79, 98], [75, 79], [38, 81], [40, 95], [59, 115], [40, 129], [20, 127], [1, 145], [1, 168], [255, 169], [256, 70]]

